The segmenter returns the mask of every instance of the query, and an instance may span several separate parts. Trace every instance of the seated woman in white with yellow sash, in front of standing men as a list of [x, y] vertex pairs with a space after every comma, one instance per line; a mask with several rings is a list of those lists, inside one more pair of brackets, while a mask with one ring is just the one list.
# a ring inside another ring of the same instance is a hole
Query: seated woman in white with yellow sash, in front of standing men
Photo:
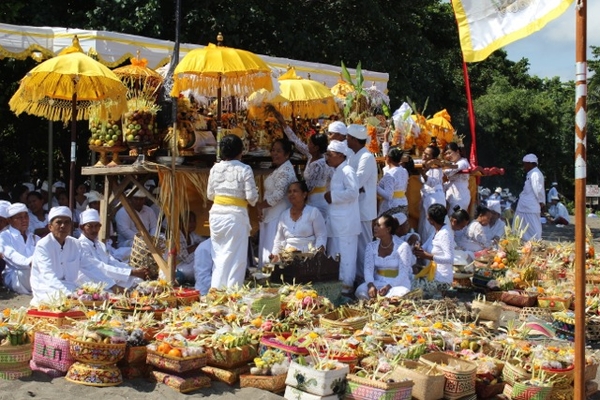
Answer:
[[412, 266], [416, 258], [408, 243], [394, 235], [398, 221], [383, 215], [375, 221], [375, 241], [365, 249], [365, 282], [356, 289], [356, 298], [403, 296], [410, 291]]

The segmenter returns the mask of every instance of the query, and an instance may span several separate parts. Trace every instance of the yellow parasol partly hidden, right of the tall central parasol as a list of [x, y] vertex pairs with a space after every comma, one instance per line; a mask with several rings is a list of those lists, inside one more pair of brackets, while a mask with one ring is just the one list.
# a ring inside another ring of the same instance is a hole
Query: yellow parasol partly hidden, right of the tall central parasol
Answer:
[[281, 96], [289, 100], [289, 106], [282, 107], [284, 116], [317, 118], [338, 113], [338, 106], [329, 88], [317, 81], [296, 75], [294, 68], [280, 76], [278, 81]]

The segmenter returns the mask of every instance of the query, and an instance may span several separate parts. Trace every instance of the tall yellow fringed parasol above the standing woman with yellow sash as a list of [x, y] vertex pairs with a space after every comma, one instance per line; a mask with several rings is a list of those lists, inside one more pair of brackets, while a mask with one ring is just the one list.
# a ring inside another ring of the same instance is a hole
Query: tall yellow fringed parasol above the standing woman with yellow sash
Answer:
[[256, 54], [210, 43], [195, 49], [177, 64], [173, 73], [171, 96], [192, 89], [198, 94], [217, 98], [217, 122], [221, 119], [222, 96], [247, 96], [259, 90], [273, 90], [271, 68]]

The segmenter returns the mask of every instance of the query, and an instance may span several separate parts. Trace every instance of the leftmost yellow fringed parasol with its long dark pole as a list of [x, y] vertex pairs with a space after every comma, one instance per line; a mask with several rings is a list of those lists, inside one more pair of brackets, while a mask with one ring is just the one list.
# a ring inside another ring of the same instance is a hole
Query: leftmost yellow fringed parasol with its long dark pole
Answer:
[[76, 121], [88, 119], [94, 107], [107, 115], [121, 115], [127, 110], [127, 88], [119, 77], [80, 49], [75, 37], [73, 46], [33, 68], [8, 103], [17, 115], [26, 112], [52, 121], [71, 122], [71, 209], [75, 194]]

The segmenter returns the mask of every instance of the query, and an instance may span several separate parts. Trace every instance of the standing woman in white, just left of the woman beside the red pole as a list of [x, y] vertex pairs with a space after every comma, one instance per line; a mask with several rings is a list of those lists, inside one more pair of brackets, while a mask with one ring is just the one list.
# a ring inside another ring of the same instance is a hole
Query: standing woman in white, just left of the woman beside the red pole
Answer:
[[427, 210], [433, 204], [446, 205], [444, 193], [444, 173], [441, 169], [440, 148], [427, 146], [423, 151], [423, 165], [421, 168], [421, 210], [419, 213], [419, 234], [421, 240], [426, 242], [434, 234], [433, 226], [427, 222]]

